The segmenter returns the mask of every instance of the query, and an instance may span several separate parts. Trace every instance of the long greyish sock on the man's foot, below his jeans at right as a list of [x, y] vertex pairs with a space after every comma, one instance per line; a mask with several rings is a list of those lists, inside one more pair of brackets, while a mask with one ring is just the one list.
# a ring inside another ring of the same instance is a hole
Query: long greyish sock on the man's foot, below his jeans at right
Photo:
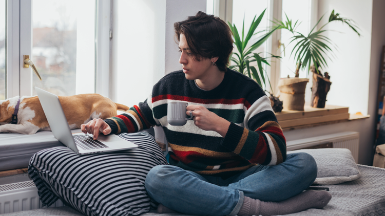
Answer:
[[[280, 215], [303, 211], [309, 208], [323, 208], [332, 199], [328, 191], [306, 190], [297, 196], [281, 202], [264, 202], [244, 197], [238, 215]], [[249, 204], [248, 204], [249, 203]]]

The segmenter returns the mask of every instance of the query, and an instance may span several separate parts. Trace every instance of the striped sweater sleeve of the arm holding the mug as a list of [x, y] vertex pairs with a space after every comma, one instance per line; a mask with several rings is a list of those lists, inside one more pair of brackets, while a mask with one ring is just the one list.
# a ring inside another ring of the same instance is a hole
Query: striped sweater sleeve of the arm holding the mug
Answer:
[[286, 160], [286, 140], [266, 95], [247, 109], [244, 125], [231, 123], [222, 146], [251, 163], [273, 166]]

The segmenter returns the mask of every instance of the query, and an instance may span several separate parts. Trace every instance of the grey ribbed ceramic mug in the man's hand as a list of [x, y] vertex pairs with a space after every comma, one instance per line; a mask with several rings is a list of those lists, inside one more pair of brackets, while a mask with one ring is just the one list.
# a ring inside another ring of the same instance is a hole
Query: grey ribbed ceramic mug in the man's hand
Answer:
[[167, 103], [167, 122], [174, 126], [183, 126], [187, 123], [187, 102], [171, 101]]

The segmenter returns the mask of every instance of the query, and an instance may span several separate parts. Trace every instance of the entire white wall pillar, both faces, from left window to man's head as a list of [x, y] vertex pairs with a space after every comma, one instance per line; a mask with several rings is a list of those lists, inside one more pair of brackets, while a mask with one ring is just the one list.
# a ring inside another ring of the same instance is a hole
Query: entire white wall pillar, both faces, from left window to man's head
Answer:
[[164, 74], [181, 70], [174, 23], [206, 11], [206, 0], [113, 1], [111, 99], [144, 101]]

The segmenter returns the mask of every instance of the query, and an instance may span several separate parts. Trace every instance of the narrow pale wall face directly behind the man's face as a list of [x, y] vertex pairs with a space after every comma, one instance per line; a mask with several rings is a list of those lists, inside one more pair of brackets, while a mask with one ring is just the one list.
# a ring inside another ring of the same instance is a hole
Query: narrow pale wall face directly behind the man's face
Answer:
[[180, 53], [176, 43], [178, 39], [175, 37], [174, 23], [185, 20], [187, 16], [194, 16], [198, 11], [206, 12], [206, 0], [167, 0], [166, 9], [165, 72], [168, 74], [182, 70], [178, 62]]

